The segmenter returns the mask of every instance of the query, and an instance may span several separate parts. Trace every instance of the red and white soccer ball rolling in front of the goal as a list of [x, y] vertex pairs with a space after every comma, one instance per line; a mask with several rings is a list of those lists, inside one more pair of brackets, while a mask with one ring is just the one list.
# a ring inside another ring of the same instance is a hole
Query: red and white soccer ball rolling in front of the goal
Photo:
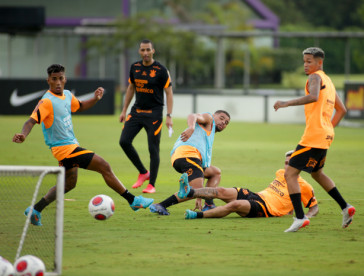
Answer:
[[88, 211], [97, 220], [105, 220], [114, 214], [115, 205], [111, 197], [97, 195], [91, 198]]

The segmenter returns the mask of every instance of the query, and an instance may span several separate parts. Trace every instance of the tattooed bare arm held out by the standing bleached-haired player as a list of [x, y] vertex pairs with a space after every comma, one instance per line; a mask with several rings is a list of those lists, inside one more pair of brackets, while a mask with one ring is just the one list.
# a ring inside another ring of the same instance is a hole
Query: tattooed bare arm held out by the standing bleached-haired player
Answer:
[[308, 77], [308, 91], [310, 94], [292, 99], [289, 101], [276, 101], [274, 104], [274, 109], [277, 111], [280, 108], [296, 105], [305, 105], [313, 102], [317, 102], [321, 88], [321, 77], [317, 74], [311, 74]]

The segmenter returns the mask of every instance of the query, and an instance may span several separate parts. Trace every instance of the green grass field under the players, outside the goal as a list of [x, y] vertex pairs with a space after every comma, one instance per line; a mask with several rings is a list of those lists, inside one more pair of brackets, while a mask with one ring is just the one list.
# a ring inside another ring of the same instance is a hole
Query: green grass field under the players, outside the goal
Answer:
[[[39, 126], [25, 143], [11, 142], [26, 119], [0, 117], [0, 164], [57, 165]], [[104, 157], [131, 189], [137, 171], [118, 145], [117, 116], [74, 116], [73, 121], [81, 146]], [[174, 124], [172, 138], [165, 128], [162, 133], [157, 193], [149, 196], [156, 202], [178, 189], [179, 174], [170, 165], [169, 152], [186, 122], [175, 119]], [[264, 189], [283, 167], [284, 153], [296, 146], [303, 129], [303, 125], [242, 123], [232, 118], [215, 137], [213, 164], [222, 170], [221, 186]], [[144, 132], [135, 146], [148, 165]], [[193, 201], [170, 207], [170, 216], [133, 212], [100, 175], [80, 170], [78, 186], [65, 196], [75, 201], [65, 201], [62, 275], [364, 275], [363, 164], [364, 130], [338, 127], [325, 171], [356, 207], [354, 222], [342, 229], [339, 207], [303, 173], [315, 188], [320, 212], [297, 233], [283, 233], [292, 216], [243, 219], [232, 214], [186, 221], [184, 211], [194, 207]], [[140, 195], [141, 189], [131, 192]], [[116, 205], [114, 216], [103, 222], [87, 210], [90, 198], [101, 193], [111, 196]]]

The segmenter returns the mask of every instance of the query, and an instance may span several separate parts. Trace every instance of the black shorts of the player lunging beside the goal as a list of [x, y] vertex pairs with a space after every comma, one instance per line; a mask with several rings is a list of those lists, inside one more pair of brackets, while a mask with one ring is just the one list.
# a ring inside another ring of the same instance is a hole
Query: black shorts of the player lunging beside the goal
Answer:
[[77, 147], [67, 158], [59, 161], [58, 164], [66, 170], [74, 167], [87, 169], [94, 155], [95, 153], [90, 150]]

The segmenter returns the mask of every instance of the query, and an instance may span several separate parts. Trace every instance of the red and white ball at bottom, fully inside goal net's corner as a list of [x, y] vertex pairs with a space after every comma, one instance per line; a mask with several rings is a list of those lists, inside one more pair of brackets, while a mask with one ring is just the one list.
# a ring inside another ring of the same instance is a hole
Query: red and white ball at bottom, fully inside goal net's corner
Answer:
[[45, 265], [41, 259], [33, 255], [20, 257], [14, 263], [16, 275], [19, 276], [44, 276]]

